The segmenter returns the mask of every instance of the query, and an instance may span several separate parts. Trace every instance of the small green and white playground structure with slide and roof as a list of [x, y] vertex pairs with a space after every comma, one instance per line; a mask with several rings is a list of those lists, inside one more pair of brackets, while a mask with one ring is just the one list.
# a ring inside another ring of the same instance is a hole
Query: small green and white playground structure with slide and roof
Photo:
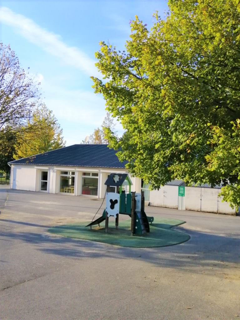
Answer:
[[[126, 173], [111, 173], [105, 182], [106, 191], [106, 209], [100, 218], [92, 221], [86, 227], [92, 228], [94, 225], [100, 227], [100, 223], [105, 221], [105, 232], [108, 232], [109, 217], [115, 217], [115, 226], [118, 229], [119, 214], [129, 215], [131, 217], [131, 234], [142, 236], [150, 232], [149, 222], [154, 218], [147, 217], [144, 211], [144, 192], [131, 192], [132, 181]], [[123, 186], [129, 187], [129, 193], [123, 191]], [[115, 188], [116, 192], [111, 192]]]

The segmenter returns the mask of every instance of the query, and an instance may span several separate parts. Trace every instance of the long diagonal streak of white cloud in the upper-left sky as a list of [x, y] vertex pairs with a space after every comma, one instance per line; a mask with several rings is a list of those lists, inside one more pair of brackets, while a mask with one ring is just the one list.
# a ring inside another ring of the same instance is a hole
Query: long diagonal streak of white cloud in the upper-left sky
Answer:
[[0, 7], [0, 21], [15, 29], [29, 42], [60, 58], [68, 65], [84, 71], [89, 76], [100, 76], [94, 66], [95, 61], [76, 47], [69, 47], [59, 35], [41, 28], [33, 20], [17, 14], [7, 7]]

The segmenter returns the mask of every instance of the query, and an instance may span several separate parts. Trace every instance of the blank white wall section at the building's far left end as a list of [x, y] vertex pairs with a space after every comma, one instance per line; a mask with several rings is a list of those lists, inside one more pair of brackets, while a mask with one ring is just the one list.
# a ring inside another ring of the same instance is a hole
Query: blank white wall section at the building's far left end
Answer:
[[12, 188], [36, 191], [36, 169], [26, 165], [16, 165], [13, 170]]

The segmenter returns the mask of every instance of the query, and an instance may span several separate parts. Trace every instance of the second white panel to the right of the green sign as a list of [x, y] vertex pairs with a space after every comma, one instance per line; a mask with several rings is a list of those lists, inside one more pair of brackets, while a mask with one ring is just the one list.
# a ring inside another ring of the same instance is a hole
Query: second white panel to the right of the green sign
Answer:
[[218, 189], [201, 188], [202, 204], [201, 211], [218, 213]]

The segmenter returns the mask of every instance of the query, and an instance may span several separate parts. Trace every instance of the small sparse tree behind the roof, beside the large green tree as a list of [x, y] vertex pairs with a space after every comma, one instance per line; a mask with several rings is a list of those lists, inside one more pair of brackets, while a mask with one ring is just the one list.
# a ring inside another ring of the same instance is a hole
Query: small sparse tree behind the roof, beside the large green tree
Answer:
[[101, 125], [101, 129], [97, 128], [89, 137], [89, 143], [92, 144], [108, 144], [108, 136], [116, 134], [114, 120], [110, 113], [107, 112]]

